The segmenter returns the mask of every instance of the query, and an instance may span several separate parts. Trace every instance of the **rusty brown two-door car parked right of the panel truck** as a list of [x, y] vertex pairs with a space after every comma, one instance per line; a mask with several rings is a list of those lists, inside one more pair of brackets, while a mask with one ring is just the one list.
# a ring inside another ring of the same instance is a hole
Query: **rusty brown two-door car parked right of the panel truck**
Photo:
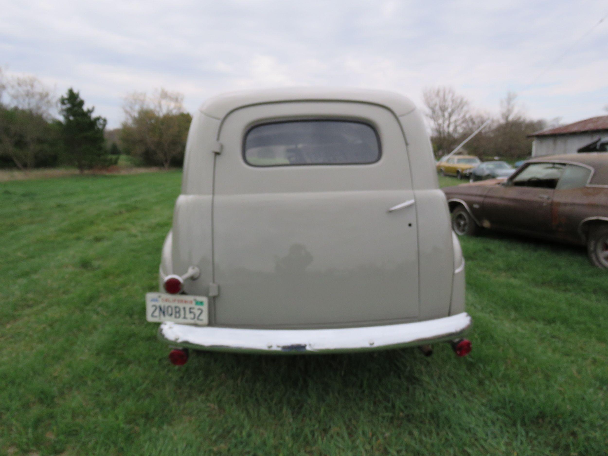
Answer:
[[452, 229], [498, 229], [587, 246], [608, 269], [608, 153], [531, 159], [506, 181], [443, 188]]

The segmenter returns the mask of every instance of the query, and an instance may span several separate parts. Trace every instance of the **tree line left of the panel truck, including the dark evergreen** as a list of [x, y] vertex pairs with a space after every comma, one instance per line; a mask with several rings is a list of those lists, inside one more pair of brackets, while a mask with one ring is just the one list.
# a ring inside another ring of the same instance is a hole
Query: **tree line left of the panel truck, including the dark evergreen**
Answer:
[[183, 100], [165, 89], [134, 92], [124, 99], [121, 128], [106, 131], [106, 119], [73, 88], [57, 98], [38, 78], [0, 69], [0, 167], [71, 165], [83, 172], [116, 165], [120, 154], [142, 165], [181, 165], [192, 120]]

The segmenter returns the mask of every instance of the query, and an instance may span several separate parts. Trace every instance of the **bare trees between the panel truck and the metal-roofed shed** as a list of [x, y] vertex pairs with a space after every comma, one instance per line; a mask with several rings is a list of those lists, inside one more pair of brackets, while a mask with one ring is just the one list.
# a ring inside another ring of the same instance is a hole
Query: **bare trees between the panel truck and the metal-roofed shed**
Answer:
[[464, 146], [467, 153], [480, 158], [527, 157], [532, 146], [532, 139], [527, 136], [549, 126], [557, 126], [555, 124], [559, 122], [559, 119], [551, 122], [530, 119], [517, 103], [514, 92], [508, 92], [500, 101], [498, 116], [476, 111], [469, 100], [450, 87], [424, 89], [423, 101], [437, 157], [450, 153], [488, 121], [488, 125]]

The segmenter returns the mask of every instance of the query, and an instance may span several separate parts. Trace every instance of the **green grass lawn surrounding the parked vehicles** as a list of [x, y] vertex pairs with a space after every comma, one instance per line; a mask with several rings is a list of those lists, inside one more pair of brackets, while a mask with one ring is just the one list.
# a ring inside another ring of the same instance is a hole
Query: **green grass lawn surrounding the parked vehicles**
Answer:
[[464, 359], [441, 344], [170, 365], [143, 295], [180, 181], [0, 183], [0, 454], [606, 454], [608, 275], [572, 247], [462, 240]]

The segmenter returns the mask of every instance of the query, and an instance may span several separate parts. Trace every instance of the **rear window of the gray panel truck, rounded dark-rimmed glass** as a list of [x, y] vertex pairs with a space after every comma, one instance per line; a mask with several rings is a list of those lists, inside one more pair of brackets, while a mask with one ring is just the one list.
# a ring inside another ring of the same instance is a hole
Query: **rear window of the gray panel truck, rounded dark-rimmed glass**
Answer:
[[243, 155], [253, 166], [368, 164], [380, 159], [380, 140], [362, 122], [266, 123], [247, 131]]

